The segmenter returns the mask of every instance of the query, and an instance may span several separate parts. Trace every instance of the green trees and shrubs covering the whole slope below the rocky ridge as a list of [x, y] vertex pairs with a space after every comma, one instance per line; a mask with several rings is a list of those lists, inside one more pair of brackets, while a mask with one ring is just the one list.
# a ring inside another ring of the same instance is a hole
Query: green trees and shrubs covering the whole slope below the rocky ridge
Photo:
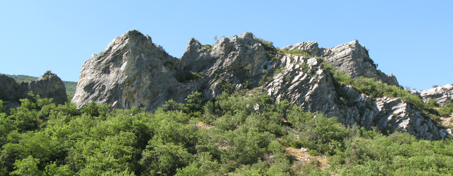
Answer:
[[345, 127], [260, 88], [201, 97], [145, 112], [29, 93], [9, 115], [0, 101], [0, 175], [453, 175], [451, 139]]

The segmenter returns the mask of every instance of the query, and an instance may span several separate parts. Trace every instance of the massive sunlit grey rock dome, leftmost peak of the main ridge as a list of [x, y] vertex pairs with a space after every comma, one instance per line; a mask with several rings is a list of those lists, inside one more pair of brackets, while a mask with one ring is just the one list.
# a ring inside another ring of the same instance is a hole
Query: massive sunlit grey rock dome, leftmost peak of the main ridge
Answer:
[[173, 77], [178, 62], [149, 36], [128, 31], [85, 61], [71, 102], [79, 108], [91, 101], [116, 108], [161, 106], [182, 96]]

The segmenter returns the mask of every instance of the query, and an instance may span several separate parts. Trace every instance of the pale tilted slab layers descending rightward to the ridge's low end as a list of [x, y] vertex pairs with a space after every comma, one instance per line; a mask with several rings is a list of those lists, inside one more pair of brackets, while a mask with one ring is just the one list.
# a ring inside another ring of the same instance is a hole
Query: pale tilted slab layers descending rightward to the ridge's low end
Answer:
[[[290, 57], [294, 60], [291, 61]], [[286, 99], [311, 112], [323, 112], [327, 117], [336, 116], [347, 126], [358, 124], [367, 129], [398, 129], [426, 140], [451, 134], [442, 133], [434, 122], [422, 117], [418, 110], [401, 99], [384, 97], [372, 100], [350, 86], [335, 89], [330, 75], [316, 58], [288, 55], [282, 60], [277, 67], [281, 66], [283, 71], [274, 74], [273, 79], [263, 86], [276, 99]], [[315, 68], [316, 71], [304, 72], [299, 66], [301, 62], [309, 63], [309, 70]]]

